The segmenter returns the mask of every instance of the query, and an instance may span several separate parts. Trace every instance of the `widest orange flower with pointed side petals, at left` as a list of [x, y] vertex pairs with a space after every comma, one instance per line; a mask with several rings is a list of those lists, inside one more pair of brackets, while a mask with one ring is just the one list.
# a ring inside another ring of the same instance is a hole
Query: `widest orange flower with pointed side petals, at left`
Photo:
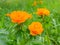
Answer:
[[25, 11], [13, 11], [7, 15], [11, 18], [12, 22], [19, 24], [25, 22], [28, 18], [31, 18], [31, 14], [28, 14]]

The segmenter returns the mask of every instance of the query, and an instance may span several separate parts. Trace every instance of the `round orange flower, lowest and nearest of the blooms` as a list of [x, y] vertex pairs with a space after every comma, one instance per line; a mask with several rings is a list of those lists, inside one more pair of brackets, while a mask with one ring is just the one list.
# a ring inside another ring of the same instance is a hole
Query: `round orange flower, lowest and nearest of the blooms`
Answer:
[[29, 25], [28, 29], [30, 30], [30, 34], [32, 36], [41, 34], [43, 32], [43, 27], [40, 22], [32, 22], [32, 24]]

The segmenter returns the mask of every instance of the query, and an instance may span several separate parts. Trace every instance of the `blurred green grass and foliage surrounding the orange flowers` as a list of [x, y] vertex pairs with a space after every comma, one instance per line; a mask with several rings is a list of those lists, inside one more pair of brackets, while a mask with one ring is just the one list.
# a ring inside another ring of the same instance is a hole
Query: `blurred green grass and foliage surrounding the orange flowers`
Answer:
[[[42, 1], [43, 4], [32, 6], [34, 0], [0, 0], [0, 45], [60, 45], [60, 0]], [[45, 7], [51, 12], [50, 16], [44, 17], [45, 22], [34, 14], [39, 7]], [[15, 29], [17, 24], [6, 17], [7, 13], [14, 10], [24, 10], [33, 14], [33, 20], [27, 20], [21, 32]], [[26, 33], [27, 26], [32, 21], [40, 21], [43, 24], [42, 35], [32, 37]]]

